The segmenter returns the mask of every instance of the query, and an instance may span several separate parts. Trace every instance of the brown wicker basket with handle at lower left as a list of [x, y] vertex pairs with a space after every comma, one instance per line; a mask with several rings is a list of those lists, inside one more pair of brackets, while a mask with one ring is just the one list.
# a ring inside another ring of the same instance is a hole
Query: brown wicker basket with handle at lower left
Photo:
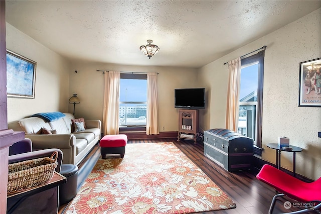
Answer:
[[58, 152], [51, 157], [9, 164], [8, 194], [49, 183], [58, 163]]

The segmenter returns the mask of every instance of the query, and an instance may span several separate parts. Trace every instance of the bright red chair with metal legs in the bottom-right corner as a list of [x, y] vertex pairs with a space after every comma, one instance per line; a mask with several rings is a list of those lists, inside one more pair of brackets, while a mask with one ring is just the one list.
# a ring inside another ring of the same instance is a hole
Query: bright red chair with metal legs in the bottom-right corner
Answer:
[[[256, 177], [275, 188], [277, 192], [280, 192], [274, 195], [269, 214], [272, 213], [276, 198], [284, 195], [298, 202], [303, 202], [303, 204], [305, 203], [304, 209], [288, 213], [296, 214], [309, 211], [321, 213], [319, 210], [321, 208], [321, 178], [307, 183], [267, 164], [261, 168]], [[311, 204], [313, 204], [313, 207], [308, 207]]]

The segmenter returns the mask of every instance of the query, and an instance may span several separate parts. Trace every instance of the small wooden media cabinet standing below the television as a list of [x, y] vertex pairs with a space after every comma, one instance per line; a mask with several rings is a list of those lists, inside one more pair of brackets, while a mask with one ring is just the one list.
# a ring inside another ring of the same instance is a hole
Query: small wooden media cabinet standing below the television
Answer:
[[180, 109], [179, 110], [179, 134], [181, 138], [194, 140], [196, 143], [199, 133], [199, 110], [197, 109]]

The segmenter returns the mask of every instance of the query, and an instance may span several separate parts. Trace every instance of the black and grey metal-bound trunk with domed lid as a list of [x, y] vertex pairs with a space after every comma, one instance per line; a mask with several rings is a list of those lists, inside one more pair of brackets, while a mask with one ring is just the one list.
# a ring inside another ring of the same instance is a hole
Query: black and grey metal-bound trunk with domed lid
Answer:
[[253, 139], [228, 129], [204, 132], [204, 155], [228, 171], [249, 170]]

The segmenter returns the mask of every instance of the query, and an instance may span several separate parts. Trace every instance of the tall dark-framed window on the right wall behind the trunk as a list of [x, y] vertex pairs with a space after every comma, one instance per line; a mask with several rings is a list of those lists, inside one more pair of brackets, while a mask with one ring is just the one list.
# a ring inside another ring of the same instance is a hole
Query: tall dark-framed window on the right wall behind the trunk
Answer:
[[[254, 139], [262, 148], [264, 50], [241, 59], [240, 106], [238, 132]], [[261, 151], [255, 150], [261, 155]]]

